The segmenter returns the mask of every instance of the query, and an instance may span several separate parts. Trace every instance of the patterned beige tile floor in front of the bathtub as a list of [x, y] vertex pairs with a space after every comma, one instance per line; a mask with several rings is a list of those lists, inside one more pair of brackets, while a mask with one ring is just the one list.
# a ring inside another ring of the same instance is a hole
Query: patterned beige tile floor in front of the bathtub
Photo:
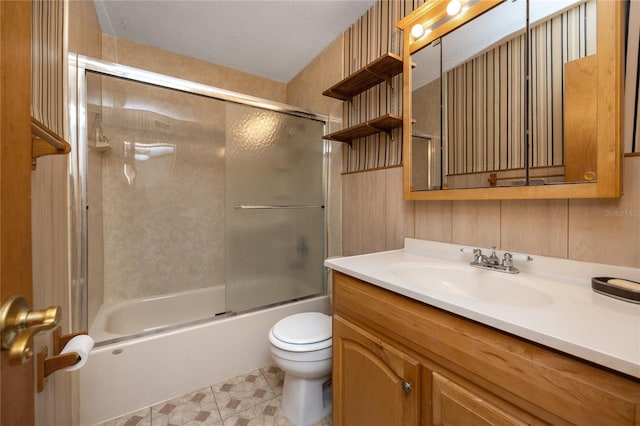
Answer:
[[[283, 382], [268, 365], [101, 426], [292, 426], [280, 409]], [[314, 426], [331, 426], [331, 416]]]

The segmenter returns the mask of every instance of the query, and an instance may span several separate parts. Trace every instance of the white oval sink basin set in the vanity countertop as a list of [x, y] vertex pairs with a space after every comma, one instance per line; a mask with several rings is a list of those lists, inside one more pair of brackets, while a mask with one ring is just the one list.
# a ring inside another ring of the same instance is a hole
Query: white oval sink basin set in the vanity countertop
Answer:
[[541, 307], [553, 302], [551, 296], [526, 285], [518, 275], [421, 263], [395, 264], [392, 271], [407, 284], [440, 295], [519, 307]]

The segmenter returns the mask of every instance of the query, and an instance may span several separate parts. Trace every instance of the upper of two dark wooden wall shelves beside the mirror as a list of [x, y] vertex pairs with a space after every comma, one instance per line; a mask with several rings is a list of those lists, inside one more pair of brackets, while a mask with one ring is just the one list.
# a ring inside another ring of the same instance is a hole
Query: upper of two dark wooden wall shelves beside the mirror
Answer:
[[322, 94], [341, 101], [348, 101], [358, 93], [384, 81], [389, 81], [401, 72], [402, 58], [389, 52], [334, 84]]

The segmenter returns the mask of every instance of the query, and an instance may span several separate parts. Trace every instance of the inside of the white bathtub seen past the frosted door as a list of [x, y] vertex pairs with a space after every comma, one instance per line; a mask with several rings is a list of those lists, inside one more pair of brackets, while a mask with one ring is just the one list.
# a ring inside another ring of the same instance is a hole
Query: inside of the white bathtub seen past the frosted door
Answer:
[[211, 318], [224, 312], [224, 292], [221, 285], [105, 304], [89, 335], [104, 342]]

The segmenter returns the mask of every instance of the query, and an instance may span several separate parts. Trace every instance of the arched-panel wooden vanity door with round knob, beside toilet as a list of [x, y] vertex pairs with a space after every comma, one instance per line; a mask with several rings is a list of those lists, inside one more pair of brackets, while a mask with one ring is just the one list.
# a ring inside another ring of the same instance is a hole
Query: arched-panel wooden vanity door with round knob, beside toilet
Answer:
[[334, 425], [417, 425], [418, 362], [337, 315], [333, 336]]

